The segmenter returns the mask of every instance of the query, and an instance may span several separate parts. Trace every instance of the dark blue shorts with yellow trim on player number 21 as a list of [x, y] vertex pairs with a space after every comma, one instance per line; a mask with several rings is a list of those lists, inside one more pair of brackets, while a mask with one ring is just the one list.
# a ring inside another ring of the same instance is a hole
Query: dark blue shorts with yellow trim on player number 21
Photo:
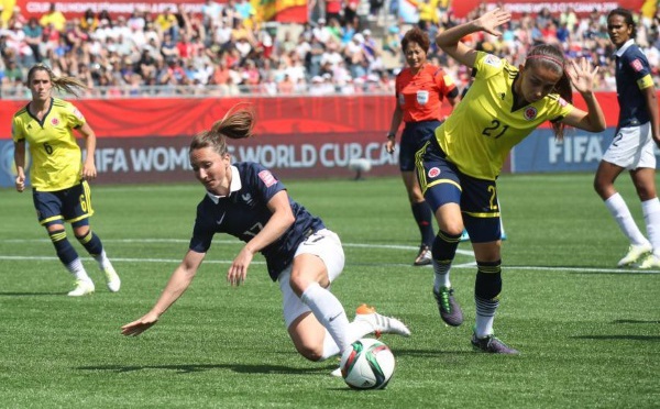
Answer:
[[447, 159], [435, 139], [417, 152], [416, 165], [421, 192], [433, 213], [442, 204], [458, 203], [473, 243], [494, 242], [502, 237], [495, 180], [462, 174]]

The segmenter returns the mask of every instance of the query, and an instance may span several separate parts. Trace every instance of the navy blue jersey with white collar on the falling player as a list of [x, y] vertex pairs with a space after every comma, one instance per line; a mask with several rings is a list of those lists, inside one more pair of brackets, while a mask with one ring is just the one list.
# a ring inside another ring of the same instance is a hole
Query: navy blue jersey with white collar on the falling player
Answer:
[[[229, 196], [206, 195], [197, 206], [190, 239], [194, 252], [206, 253], [216, 233], [228, 233], [243, 242], [252, 240], [273, 215], [268, 201], [275, 194], [285, 190], [284, 185], [260, 164], [237, 163], [231, 168]], [[298, 245], [311, 233], [326, 228], [321, 219], [310, 214], [290, 197], [289, 203], [296, 221], [277, 241], [261, 251], [273, 280], [294, 261]]]

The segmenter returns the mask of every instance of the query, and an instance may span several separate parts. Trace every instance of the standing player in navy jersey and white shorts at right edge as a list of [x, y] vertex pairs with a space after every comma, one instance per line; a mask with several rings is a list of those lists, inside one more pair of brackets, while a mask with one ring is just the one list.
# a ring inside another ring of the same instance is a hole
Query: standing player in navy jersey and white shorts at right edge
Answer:
[[[617, 48], [616, 93], [620, 110], [616, 134], [598, 165], [594, 188], [630, 242], [618, 266], [660, 268], [660, 201], [656, 192], [653, 153], [653, 147], [660, 146], [660, 115], [649, 63], [635, 44], [636, 32], [630, 11], [614, 9], [609, 12], [607, 33]], [[641, 201], [648, 240], [614, 187], [616, 178], [626, 169]]]

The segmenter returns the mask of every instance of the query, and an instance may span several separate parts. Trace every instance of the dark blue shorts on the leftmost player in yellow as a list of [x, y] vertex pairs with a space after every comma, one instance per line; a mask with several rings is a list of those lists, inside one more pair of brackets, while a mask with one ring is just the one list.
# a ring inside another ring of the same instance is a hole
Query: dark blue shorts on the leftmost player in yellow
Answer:
[[32, 190], [32, 200], [38, 223], [43, 225], [62, 223], [63, 220], [76, 226], [85, 225], [94, 214], [89, 185], [85, 180], [63, 190]]

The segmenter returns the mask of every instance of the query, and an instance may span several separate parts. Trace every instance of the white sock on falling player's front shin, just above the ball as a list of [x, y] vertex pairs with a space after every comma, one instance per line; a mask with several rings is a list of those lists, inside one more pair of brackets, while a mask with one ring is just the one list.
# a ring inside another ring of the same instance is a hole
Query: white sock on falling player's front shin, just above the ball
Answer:
[[312, 283], [302, 292], [300, 299], [309, 307], [321, 325], [328, 330], [340, 352], [343, 352], [351, 345], [346, 312], [332, 292], [321, 287], [318, 283]]

